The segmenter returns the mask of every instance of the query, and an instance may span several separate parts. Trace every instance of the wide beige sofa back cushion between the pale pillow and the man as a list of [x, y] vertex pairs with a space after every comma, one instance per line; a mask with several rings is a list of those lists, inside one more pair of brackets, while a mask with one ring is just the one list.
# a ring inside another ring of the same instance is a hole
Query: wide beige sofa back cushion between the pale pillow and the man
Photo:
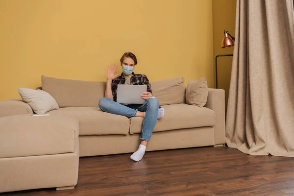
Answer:
[[105, 82], [57, 79], [42, 75], [42, 90], [63, 107], [98, 107], [104, 96]]

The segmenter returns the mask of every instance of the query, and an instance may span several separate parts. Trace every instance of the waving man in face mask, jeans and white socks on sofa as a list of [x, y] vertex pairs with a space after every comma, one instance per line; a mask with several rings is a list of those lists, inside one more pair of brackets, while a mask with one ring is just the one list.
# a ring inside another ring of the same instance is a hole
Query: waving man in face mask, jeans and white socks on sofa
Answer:
[[[131, 117], [143, 117], [143, 127], [141, 134], [141, 144], [136, 152], [131, 155], [134, 161], [140, 161], [151, 138], [157, 119], [164, 116], [164, 109], [159, 107], [157, 98], [152, 96], [152, 90], [146, 75], [135, 74], [133, 72], [137, 65], [137, 58], [132, 52], [125, 52], [121, 58], [123, 73], [115, 74], [117, 66], [110, 65], [107, 69], [107, 80], [104, 98], [99, 100], [99, 107], [103, 112]], [[146, 99], [144, 104], [126, 104], [122, 105], [117, 100], [118, 84], [128, 85], [147, 85], [147, 92], [143, 93], [141, 98]]]

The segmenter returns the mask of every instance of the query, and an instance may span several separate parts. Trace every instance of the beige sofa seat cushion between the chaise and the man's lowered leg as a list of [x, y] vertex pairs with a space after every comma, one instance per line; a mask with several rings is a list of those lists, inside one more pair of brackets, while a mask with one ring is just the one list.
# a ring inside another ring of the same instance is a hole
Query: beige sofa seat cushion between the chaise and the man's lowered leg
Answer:
[[102, 112], [95, 107], [67, 107], [49, 112], [71, 116], [79, 121], [79, 135], [127, 135], [130, 120], [124, 116]]

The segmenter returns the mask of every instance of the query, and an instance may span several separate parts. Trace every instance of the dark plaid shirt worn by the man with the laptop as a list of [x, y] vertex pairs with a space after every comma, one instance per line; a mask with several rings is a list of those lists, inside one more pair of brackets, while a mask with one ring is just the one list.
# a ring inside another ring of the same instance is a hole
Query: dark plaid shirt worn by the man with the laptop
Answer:
[[[117, 78], [114, 78], [112, 80], [111, 91], [112, 91], [112, 97], [114, 101], [117, 101], [118, 85], [124, 84], [124, 82], [125, 82], [125, 78], [123, 76], [123, 73], [121, 74], [121, 76], [118, 76]], [[130, 79], [130, 83], [131, 85], [147, 85], [147, 92], [152, 93], [151, 85], [146, 75], [133, 73]]]

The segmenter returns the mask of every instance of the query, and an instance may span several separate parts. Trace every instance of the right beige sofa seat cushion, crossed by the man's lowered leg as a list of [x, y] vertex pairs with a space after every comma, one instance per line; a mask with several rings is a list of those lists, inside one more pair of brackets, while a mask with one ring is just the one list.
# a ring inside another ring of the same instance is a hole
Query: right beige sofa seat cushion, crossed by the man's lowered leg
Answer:
[[[153, 132], [213, 126], [216, 123], [216, 113], [205, 107], [182, 103], [165, 105], [163, 108], [164, 117], [157, 121]], [[130, 120], [130, 134], [141, 133], [143, 118], [134, 117]]]

